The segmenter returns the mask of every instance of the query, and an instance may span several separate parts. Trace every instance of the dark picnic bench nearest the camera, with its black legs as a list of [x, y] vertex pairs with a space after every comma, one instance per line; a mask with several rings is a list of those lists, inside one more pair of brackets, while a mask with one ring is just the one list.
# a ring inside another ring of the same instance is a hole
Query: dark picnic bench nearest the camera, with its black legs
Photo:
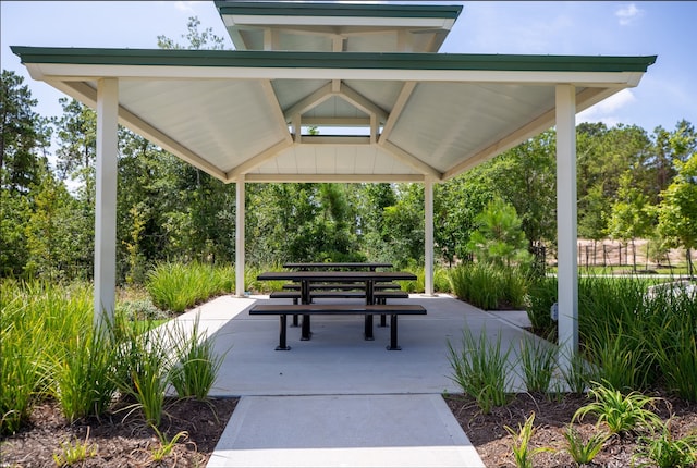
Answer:
[[[354, 305], [354, 304], [288, 304], [288, 305], [254, 305], [249, 309], [250, 316], [279, 316], [279, 345], [277, 350], [290, 350], [286, 341], [286, 325], [289, 315], [363, 315], [365, 316], [365, 340], [375, 340], [372, 336], [372, 316], [390, 316], [390, 344], [388, 350], [402, 349], [398, 344], [398, 317], [403, 315], [426, 315], [424, 306], [416, 304], [380, 304], [380, 305]], [[303, 321], [303, 338], [309, 340], [309, 321], [307, 328]]]

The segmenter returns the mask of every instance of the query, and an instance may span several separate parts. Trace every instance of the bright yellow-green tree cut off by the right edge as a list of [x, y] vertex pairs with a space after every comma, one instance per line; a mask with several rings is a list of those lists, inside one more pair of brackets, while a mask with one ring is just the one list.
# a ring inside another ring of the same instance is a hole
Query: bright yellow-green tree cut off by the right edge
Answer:
[[697, 247], [697, 153], [684, 163], [677, 162], [678, 172], [662, 193], [659, 208], [659, 232], [682, 245], [687, 251], [689, 275], [694, 275], [690, 250]]

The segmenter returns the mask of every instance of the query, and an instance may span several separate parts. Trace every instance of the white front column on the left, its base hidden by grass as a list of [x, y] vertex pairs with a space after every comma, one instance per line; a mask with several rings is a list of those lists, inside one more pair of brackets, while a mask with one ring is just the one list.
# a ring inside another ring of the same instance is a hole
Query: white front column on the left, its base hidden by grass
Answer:
[[118, 131], [119, 81], [102, 78], [97, 82], [95, 327], [111, 320], [115, 307]]

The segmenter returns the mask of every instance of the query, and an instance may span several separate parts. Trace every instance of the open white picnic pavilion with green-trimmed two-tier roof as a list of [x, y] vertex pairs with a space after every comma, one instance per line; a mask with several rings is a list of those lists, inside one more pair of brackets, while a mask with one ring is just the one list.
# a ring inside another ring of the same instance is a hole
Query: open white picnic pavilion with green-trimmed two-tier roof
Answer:
[[437, 53], [458, 5], [216, 7], [236, 50], [12, 47], [97, 110], [96, 320], [114, 307], [118, 124], [236, 184], [239, 295], [245, 183], [423, 183], [432, 294], [433, 184], [555, 126], [559, 342], [575, 352], [575, 115], [637, 86], [656, 56]]

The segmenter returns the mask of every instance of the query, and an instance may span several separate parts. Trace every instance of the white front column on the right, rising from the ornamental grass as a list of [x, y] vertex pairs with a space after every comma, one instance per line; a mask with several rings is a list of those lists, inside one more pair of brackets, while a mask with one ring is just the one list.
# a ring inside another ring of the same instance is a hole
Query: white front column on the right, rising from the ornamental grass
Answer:
[[557, 236], [560, 366], [578, 350], [576, 88], [557, 85]]

